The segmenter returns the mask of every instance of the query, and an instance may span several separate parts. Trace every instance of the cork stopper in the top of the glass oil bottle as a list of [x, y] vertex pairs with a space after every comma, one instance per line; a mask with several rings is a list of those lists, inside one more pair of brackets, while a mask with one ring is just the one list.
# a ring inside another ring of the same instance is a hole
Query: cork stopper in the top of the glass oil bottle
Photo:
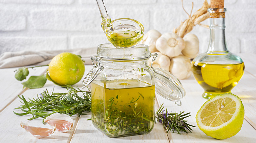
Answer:
[[223, 8], [224, 0], [211, 0], [211, 9], [215, 12], [210, 13], [210, 18], [225, 18], [225, 12], [220, 12]]

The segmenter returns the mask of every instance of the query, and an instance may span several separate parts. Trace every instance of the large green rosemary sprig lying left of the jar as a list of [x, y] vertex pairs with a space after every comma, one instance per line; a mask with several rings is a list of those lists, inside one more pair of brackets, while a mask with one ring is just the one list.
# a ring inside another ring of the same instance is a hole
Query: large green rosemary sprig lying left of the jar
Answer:
[[[79, 114], [86, 115], [84, 111], [91, 112], [91, 91], [82, 91], [78, 87], [68, 86], [66, 88], [68, 91], [65, 93], [54, 93], [48, 92], [46, 89], [40, 96], [37, 95], [36, 98], [29, 99], [27, 101], [24, 96], [19, 96], [22, 100], [20, 107], [14, 109], [21, 109], [25, 113], [16, 113], [16, 115], [27, 115], [32, 114], [33, 117], [28, 119], [43, 118], [43, 120], [53, 113], [63, 113], [69, 116]], [[54, 90], [54, 89], [53, 89]], [[81, 93], [79, 96], [78, 93]]]

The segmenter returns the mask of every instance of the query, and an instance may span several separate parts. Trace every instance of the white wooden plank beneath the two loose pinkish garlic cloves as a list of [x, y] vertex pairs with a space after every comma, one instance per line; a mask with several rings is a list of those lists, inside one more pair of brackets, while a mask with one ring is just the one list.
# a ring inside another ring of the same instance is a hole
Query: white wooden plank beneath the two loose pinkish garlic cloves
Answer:
[[[87, 74], [87, 72], [91, 69], [91, 65], [86, 66], [86, 71], [85, 73]], [[1, 70], [0, 70], [1, 71]], [[43, 70], [41, 70], [42, 72]], [[10, 73], [8, 73], [7, 75], [9, 75]], [[85, 74], [85, 75], [86, 75]], [[11, 74], [10, 77], [13, 77], [14, 75]], [[1, 84], [3, 84], [3, 82], [1, 82]], [[16, 87], [18, 87], [19, 85], [21, 85], [20, 83], [18, 83], [17, 85], [13, 86], [12, 88], [10, 88], [9, 90], [13, 90]], [[81, 87], [81, 81], [78, 82], [77, 84], [75, 84], [74, 86], [77, 87]], [[22, 86], [21, 86], [22, 87]], [[56, 92], [66, 92], [67, 90], [65, 88], [59, 87], [54, 85], [51, 81], [47, 81], [45, 86], [42, 88], [38, 88], [38, 89], [28, 89], [26, 90], [24, 93], [22, 93], [22, 95], [28, 100], [28, 98], [35, 98], [37, 96], [37, 94], [40, 94], [41, 92], [43, 92], [43, 90], [45, 90], [46, 88], [48, 89], [48, 91], [50, 92], [51, 90], [53, 90], [54, 87], [54, 93]], [[14, 96], [13, 94], [15, 94], [15, 96], [17, 96], [16, 93], [8, 93], [8, 96]], [[0, 95], [1, 98], [3, 97], [3, 95]], [[51, 143], [63, 143], [63, 142], [70, 142], [70, 139], [73, 135], [74, 132], [70, 132], [70, 133], [59, 133], [59, 132], [55, 132], [53, 135], [48, 136], [48, 137], [44, 137], [42, 139], [37, 139], [34, 136], [32, 136], [30, 133], [26, 132], [21, 126], [20, 126], [20, 122], [24, 122], [24, 123], [28, 123], [31, 126], [38, 126], [38, 127], [44, 127], [44, 128], [50, 128], [50, 126], [48, 124], [43, 125], [42, 124], [42, 118], [41, 119], [35, 119], [35, 120], [31, 120], [28, 121], [27, 119], [31, 118], [32, 115], [25, 115], [25, 116], [18, 116], [15, 115], [12, 111], [13, 108], [18, 107], [18, 105], [20, 105], [20, 99], [15, 99], [13, 100], [1, 113], [0, 113], [0, 120], [1, 120], [1, 130], [0, 130], [0, 142], [19, 142], [19, 143], [32, 143], [32, 142], [37, 142], [37, 143], [43, 143], [43, 142], [51, 142]], [[17, 113], [22, 113], [21, 110], [15, 110], [15, 112]], [[73, 121], [74, 121], [74, 130], [75, 130], [75, 126], [77, 124], [78, 121], [78, 117], [77, 115], [72, 117]]]

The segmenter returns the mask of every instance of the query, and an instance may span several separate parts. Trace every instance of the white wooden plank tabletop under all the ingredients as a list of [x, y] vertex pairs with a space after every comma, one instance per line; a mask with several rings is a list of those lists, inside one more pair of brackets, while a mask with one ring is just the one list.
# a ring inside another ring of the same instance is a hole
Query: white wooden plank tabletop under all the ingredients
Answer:
[[[14, 70], [17, 68], [0, 69], [0, 142], [1, 143], [30, 143], [30, 142], [51, 142], [51, 143], [78, 143], [78, 142], [95, 142], [95, 143], [175, 143], [175, 142], [241, 142], [241, 143], [254, 143], [256, 142], [256, 54], [239, 54], [245, 63], [245, 73], [232, 93], [238, 95], [243, 101], [245, 107], [245, 119], [240, 132], [235, 136], [224, 140], [217, 140], [205, 135], [198, 127], [192, 128], [192, 133], [186, 134], [177, 132], [169, 132], [163, 129], [161, 124], [155, 124], [154, 129], [147, 135], [137, 135], [120, 138], [109, 138], [100, 131], [98, 131], [92, 124], [91, 114], [83, 116], [73, 116], [74, 132], [59, 133], [55, 132], [53, 135], [37, 139], [30, 133], [27, 133], [19, 124], [20, 122], [29, 123], [34, 126], [48, 127], [42, 124], [42, 119], [28, 121], [31, 115], [18, 116], [13, 114], [13, 108], [20, 105], [20, 99], [17, 95], [23, 95], [26, 99], [36, 97], [46, 88], [50, 91], [55, 86], [52, 82], [47, 81], [44, 87], [39, 89], [22, 88], [20, 81], [14, 78]], [[86, 71], [91, 69], [91, 65], [86, 66]], [[46, 72], [47, 67], [36, 68], [30, 70], [31, 75], [41, 75]], [[168, 111], [185, 111], [191, 112], [191, 116], [187, 118], [188, 123], [191, 125], [196, 124], [195, 116], [199, 108], [206, 102], [206, 99], [201, 97], [203, 88], [194, 79], [193, 75], [186, 79], [181, 80], [186, 96], [182, 99], [182, 106], [176, 106], [175, 103], [168, 101], [160, 96], [156, 96], [155, 109], [159, 108], [161, 103], [164, 103]], [[81, 87], [82, 84], [78, 83], [75, 86]], [[54, 91], [63, 92], [66, 89], [61, 87], [54, 87]], [[18, 110], [16, 110], [18, 112]]]

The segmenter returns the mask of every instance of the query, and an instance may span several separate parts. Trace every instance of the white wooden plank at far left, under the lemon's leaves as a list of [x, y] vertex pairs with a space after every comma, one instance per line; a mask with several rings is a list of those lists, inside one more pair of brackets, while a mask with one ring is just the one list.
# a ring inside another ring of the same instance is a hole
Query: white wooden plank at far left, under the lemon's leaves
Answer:
[[[29, 69], [29, 77], [32, 75], [42, 75], [48, 67], [38, 67], [35, 70]], [[0, 91], [1, 91], [1, 104], [0, 104], [0, 113], [1, 111], [13, 100], [15, 100], [18, 94], [27, 90], [27, 88], [23, 89], [23, 85], [21, 84], [24, 81], [18, 81], [15, 79], [13, 72], [18, 68], [8, 68], [8, 69], [0, 69], [1, 82], [0, 82]], [[28, 79], [28, 78], [27, 78]]]

